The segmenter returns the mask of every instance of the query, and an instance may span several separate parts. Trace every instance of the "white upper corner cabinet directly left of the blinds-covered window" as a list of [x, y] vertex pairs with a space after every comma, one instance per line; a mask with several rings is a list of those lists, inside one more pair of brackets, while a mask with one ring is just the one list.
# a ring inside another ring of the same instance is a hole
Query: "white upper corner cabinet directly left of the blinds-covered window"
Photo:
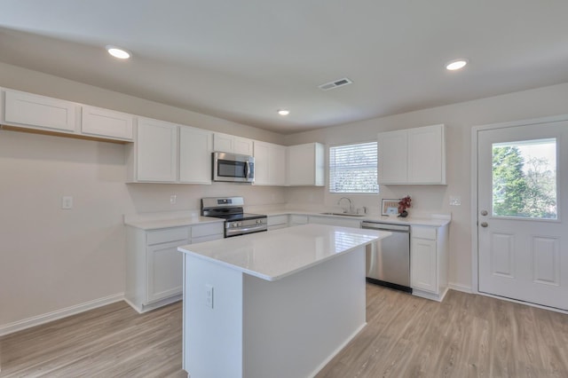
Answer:
[[324, 146], [320, 143], [288, 146], [288, 185], [323, 186]]

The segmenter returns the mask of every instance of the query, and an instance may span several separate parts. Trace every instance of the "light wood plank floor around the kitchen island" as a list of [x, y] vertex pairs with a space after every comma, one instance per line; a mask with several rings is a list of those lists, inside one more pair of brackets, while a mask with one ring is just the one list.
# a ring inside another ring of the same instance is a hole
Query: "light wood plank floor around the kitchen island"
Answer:
[[[568, 377], [568, 315], [367, 285], [367, 322], [323, 377]], [[182, 377], [181, 303], [114, 303], [0, 338], [0, 377]], [[294, 377], [291, 377], [294, 378]]]

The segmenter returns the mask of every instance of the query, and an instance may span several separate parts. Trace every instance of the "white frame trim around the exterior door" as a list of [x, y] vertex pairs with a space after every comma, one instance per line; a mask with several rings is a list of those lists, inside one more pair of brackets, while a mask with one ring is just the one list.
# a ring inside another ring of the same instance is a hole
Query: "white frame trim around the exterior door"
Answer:
[[[477, 209], [478, 209], [478, 195], [477, 193], [477, 147], [478, 147], [478, 135], [480, 131], [483, 130], [496, 130], [496, 129], [506, 129], [510, 127], [517, 126], [528, 126], [536, 125], [539, 123], [548, 122], [561, 122], [568, 121], [568, 114], [554, 115], [549, 117], [540, 117], [528, 120], [519, 120], [513, 122], [500, 122], [491, 123], [480, 126], [474, 126], [471, 129], [471, 292], [474, 294], [486, 295], [485, 293], [479, 292], [479, 267], [478, 267], [478, 236], [477, 236]], [[493, 295], [489, 295], [493, 296]], [[497, 297], [497, 296], [496, 296]], [[505, 298], [503, 298], [505, 299]], [[513, 301], [515, 302], [515, 301]], [[527, 303], [529, 304], [529, 303]], [[540, 305], [535, 305], [540, 307]], [[549, 309], [548, 307], [545, 307]]]

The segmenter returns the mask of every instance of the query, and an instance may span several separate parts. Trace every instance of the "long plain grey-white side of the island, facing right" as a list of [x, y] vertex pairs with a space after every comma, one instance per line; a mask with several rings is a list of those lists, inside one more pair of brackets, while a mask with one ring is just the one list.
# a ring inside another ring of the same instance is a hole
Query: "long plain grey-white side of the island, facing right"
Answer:
[[244, 376], [317, 374], [366, 325], [365, 249], [282, 280], [244, 275]]

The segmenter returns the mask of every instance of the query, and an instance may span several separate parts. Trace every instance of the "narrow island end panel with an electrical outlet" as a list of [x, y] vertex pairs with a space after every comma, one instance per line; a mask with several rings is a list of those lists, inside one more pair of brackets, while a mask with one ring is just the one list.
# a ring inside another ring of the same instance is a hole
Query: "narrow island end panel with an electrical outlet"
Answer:
[[184, 271], [184, 370], [192, 378], [242, 377], [243, 273], [188, 254]]

